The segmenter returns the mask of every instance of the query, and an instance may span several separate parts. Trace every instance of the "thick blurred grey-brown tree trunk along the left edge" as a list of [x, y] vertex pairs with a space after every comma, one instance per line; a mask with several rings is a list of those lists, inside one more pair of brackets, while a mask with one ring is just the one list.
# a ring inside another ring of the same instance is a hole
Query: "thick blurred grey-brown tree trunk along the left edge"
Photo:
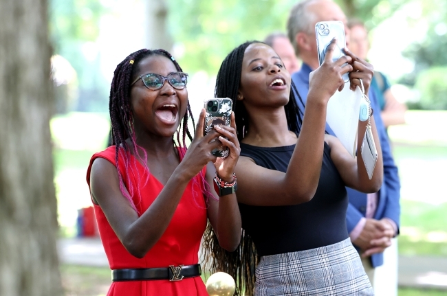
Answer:
[[0, 295], [63, 295], [46, 0], [0, 1]]

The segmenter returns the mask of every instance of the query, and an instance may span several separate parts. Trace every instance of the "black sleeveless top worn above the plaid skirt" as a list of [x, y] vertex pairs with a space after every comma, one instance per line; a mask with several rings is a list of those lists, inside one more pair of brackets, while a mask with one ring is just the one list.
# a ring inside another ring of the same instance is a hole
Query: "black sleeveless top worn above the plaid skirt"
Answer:
[[[241, 143], [241, 156], [250, 157], [258, 166], [286, 172], [294, 148]], [[315, 249], [348, 238], [347, 192], [330, 151], [325, 143], [320, 181], [311, 201], [268, 207], [239, 203], [242, 228], [251, 236], [259, 255]]]

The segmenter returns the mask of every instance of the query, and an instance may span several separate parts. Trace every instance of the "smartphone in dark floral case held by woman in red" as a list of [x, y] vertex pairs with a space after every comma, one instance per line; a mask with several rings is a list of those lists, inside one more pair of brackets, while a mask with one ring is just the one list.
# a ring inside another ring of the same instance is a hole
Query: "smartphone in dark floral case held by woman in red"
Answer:
[[[208, 134], [216, 125], [230, 126], [233, 101], [230, 98], [212, 98], [205, 101], [204, 135]], [[228, 157], [228, 147], [220, 146], [212, 150], [212, 155]]]

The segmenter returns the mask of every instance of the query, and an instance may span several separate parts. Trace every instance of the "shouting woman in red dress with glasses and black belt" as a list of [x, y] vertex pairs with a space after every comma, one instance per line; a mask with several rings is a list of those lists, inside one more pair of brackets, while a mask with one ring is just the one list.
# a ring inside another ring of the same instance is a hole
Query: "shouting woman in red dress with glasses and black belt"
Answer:
[[[207, 221], [221, 247], [233, 251], [239, 244], [234, 115], [231, 126], [204, 136], [202, 110], [192, 138], [186, 82], [187, 74], [162, 49], [134, 52], [115, 70], [113, 146], [91, 157], [87, 170], [112, 270], [107, 295], [208, 295], [197, 264]], [[230, 150], [225, 159], [211, 154], [222, 145]]]

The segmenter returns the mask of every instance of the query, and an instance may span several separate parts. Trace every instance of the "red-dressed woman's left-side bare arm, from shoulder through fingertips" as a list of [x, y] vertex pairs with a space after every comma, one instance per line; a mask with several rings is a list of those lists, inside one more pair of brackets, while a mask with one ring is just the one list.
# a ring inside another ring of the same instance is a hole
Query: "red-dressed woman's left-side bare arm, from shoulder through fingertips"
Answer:
[[179, 166], [164, 185], [155, 201], [140, 217], [121, 191], [115, 166], [105, 159], [96, 159], [91, 168], [91, 194], [98, 202], [113, 231], [124, 247], [137, 258], [142, 258], [160, 239], [168, 227], [186, 185], [209, 161], [216, 157], [211, 151], [221, 145], [212, 141], [221, 135], [217, 131], [203, 131], [204, 112], [201, 112], [193, 143]]

